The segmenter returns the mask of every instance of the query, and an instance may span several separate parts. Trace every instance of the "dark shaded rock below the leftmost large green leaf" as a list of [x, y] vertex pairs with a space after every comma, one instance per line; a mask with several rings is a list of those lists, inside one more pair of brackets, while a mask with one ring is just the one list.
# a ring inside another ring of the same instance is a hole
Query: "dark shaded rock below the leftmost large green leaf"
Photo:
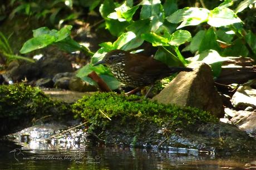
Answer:
[[53, 78], [57, 73], [72, 72], [72, 64], [65, 57], [42, 57], [39, 61], [42, 78]]

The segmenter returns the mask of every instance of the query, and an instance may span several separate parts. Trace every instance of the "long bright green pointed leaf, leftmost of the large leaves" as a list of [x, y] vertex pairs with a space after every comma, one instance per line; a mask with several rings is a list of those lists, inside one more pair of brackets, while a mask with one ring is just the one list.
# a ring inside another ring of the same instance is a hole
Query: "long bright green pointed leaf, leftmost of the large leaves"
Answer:
[[55, 42], [55, 37], [50, 36], [49, 34], [43, 34], [41, 36], [31, 38], [23, 44], [23, 47], [19, 51], [20, 53], [28, 53], [34, 51], [35, 49], [40, 49], [48, 46]]

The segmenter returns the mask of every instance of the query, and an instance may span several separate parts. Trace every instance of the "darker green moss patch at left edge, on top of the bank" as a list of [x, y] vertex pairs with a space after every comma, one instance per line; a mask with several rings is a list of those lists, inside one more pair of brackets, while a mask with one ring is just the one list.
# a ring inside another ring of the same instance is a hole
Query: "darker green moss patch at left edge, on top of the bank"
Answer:
[[65, 112], [67, 106], [52, 101], [39, 88], [24, 84], [0, 86], [0, 119], [20, 119], [26, 116], [43, 116], [56, 112]]

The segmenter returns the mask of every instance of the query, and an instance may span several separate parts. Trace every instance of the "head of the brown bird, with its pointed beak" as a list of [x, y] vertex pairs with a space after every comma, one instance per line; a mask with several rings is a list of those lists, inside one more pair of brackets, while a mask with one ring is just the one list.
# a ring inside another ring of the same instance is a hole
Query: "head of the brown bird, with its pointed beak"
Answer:
[[126, 52], [124, 50], [115, 49], [111, 52], [108, 52], [101, 61], [93, 64], [93, 66], [97, 66], [99, 64], [105, 64], [106, 66], [110, 66], [111, 64], [120, 63], [124, 61], [125, 56], [129, 54], [129, 52]]

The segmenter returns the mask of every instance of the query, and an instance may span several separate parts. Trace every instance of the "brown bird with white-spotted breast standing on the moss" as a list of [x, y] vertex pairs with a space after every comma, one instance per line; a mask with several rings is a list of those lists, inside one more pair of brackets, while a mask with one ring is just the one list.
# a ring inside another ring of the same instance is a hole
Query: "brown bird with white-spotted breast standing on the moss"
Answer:
[[114, 77], [121, 83], [135, 88], [154, 85], [157, 80], [168, 77], [173, 73], [193, 71], [189, 67], [171, 67], [153, 57], [132, 54], [121, 49], [106, 53], [105, 57], [93, 66], [99, 64], [109, 67]]

